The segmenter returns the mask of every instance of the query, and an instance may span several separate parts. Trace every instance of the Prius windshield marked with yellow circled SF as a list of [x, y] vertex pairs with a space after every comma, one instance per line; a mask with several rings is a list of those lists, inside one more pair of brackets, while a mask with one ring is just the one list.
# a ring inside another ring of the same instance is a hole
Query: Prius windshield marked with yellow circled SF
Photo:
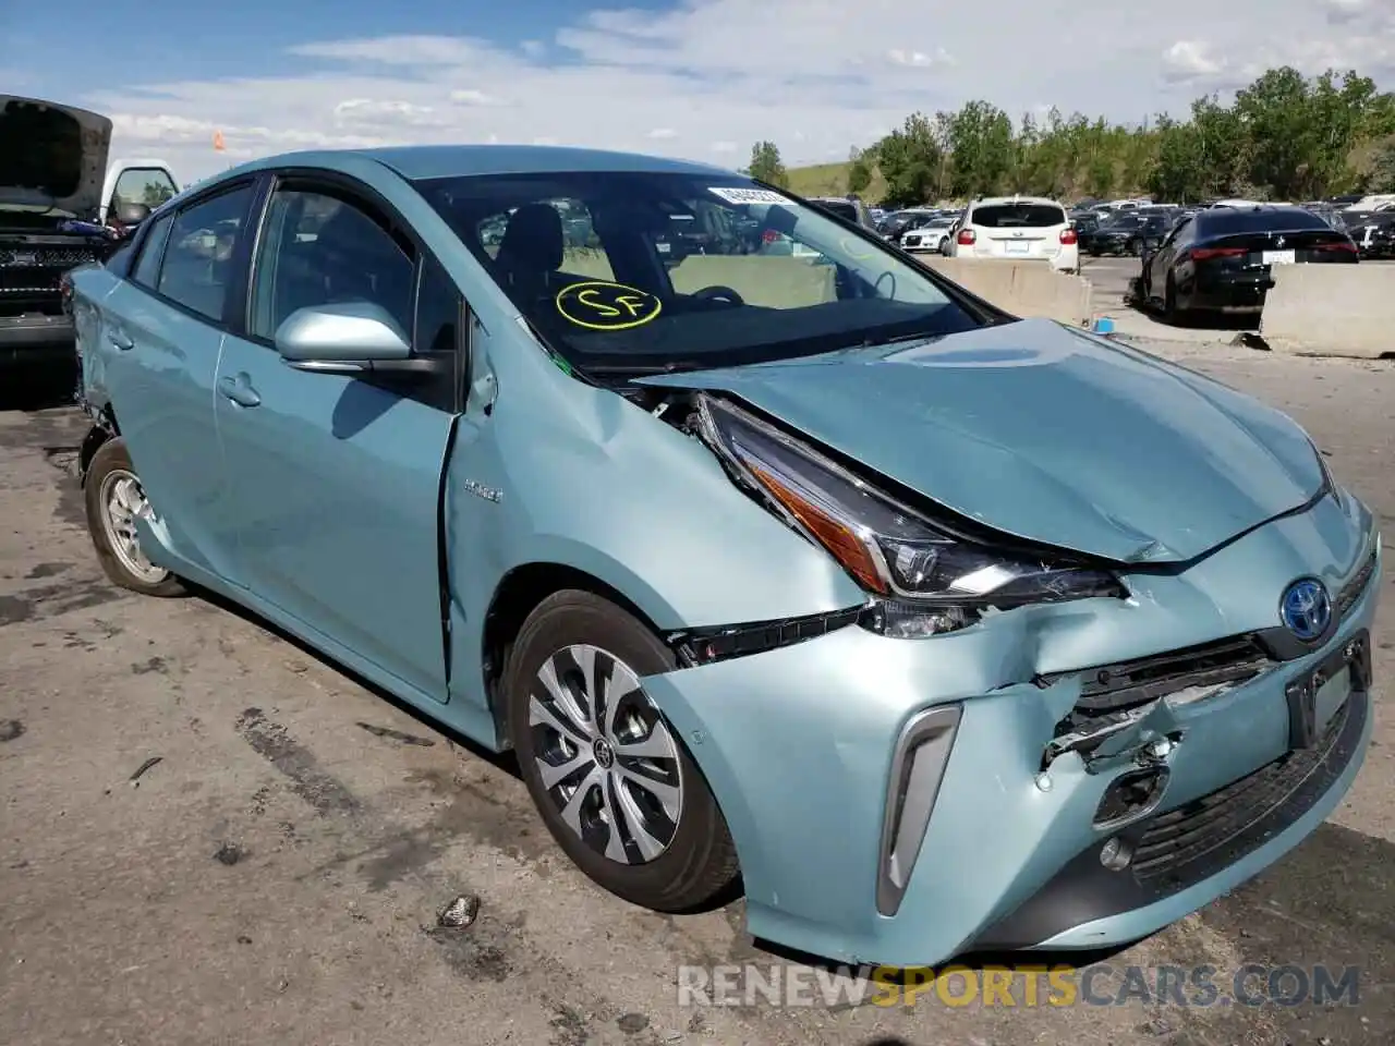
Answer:
[[734, 174], [414, 184], [582, 368], [730, 367], [982, 325], [877, 238]]

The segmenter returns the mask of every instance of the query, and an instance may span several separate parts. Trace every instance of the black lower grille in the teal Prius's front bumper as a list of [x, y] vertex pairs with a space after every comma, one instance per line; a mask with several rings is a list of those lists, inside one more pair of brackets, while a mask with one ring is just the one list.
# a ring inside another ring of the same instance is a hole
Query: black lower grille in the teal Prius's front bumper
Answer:
[[[1292, 802], [1302, 809], [1285, 820], [1300, 816], [1310, 803], [1299, 802], [1296, 794], [1314, 775], [1322, 777], [1325, 784], [1325, 775], [1317, 774], [1324, 766], [1335, 775], [1346, 764], [1341, 757], [1346, 748], [1339, 742], [1352, 715], [1364, 714], [1364, 707], [1366, 695], [1353, 695], [1313, 748], [1289, 752], [1249, 777], [1152, 819], [1134, 848], [1134, 877], [1140, 883], [1166, 877], [1198, 881], [1204, 873], [1190, 874], [1187, 866], [1226, 847], [1265, 814], [1276, 813]], [[1228, 854], [1225, 863], [1237, 861], [1261, 842], [1264, 838], [1257, 838], [1242, 847], [1242, 852]]]

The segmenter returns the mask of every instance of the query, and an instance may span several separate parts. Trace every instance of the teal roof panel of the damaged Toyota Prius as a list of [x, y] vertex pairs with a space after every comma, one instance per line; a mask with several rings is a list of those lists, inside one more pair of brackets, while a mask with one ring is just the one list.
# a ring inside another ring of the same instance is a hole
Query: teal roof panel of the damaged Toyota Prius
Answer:
[[317, 149], [265, 156], [241, 170], [335, 166], [339, 158], [361, 156], [391, 167], [409, 181], [488, 174], [552, 174], [565, 172], [644, 172], [707, 174], [730, 179], [732, 172], [707, 163], [646, 156], [633, 152], [578, 149], [564, 145], [400, 145], [379, 149]]

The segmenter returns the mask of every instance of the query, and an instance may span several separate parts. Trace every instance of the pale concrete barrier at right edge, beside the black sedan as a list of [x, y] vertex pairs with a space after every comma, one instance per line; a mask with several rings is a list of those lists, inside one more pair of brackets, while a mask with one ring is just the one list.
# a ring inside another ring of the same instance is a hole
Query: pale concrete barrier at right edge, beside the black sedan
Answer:
[[1271, 350], [1395, 357], [1395, 265], [1275, 265], [1260, 335]]

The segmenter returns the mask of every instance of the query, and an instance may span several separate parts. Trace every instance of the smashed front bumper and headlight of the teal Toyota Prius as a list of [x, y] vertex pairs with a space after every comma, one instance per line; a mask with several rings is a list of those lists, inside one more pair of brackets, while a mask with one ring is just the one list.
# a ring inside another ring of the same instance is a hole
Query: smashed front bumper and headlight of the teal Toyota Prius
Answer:
[[[1272, 863], [1349, 787], [1378, 540], [1324, 477], [1267, 520], [1207, 520], [1221, 538], [1187, 561], [1105, 558], [956, 512], [777, 417], [774, 393], [682, 377], [633, 399], [864, 593], [671, 630], [678, 668], [644, 683], [728, 817], [752, 933], [900, 965], [1123, 943]], [[1314, 569], [1332, 630], [1295, 644], [1276, 602]]]

